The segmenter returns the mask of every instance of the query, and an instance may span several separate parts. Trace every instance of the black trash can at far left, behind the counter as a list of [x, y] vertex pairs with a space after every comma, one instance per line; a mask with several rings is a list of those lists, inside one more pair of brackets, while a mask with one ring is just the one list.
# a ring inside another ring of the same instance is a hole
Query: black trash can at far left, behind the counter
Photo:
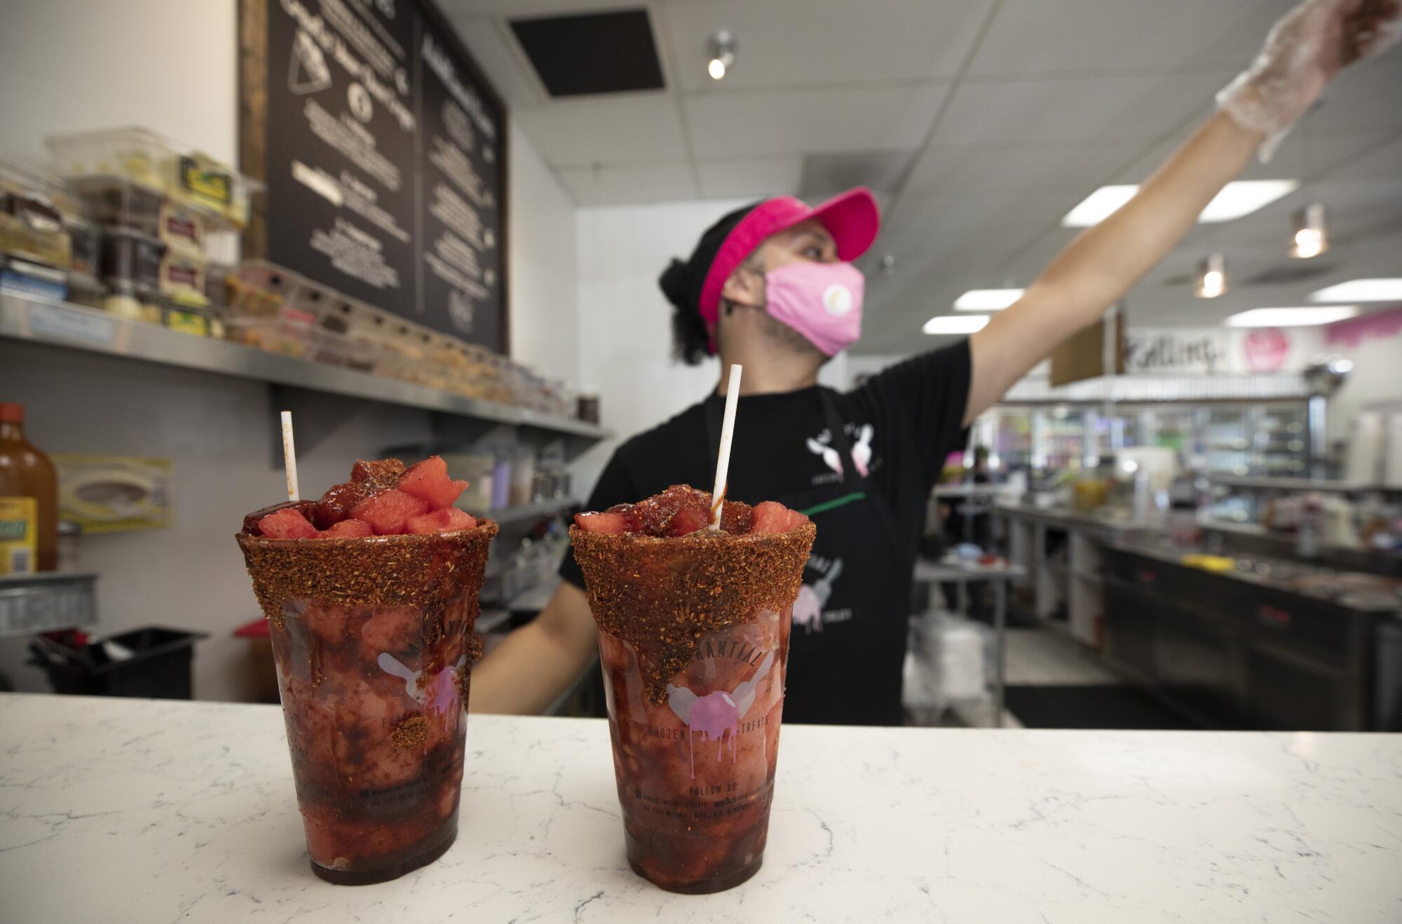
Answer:
[[32, 644], [29, 663], [48, 672], [55, 693], [189, 700], [195, 642], [203, 638], [209, 634], [146, 625], [107, 639], [129, 649], [130, 658], [114, 660], [101, 642], [77, 649]]

